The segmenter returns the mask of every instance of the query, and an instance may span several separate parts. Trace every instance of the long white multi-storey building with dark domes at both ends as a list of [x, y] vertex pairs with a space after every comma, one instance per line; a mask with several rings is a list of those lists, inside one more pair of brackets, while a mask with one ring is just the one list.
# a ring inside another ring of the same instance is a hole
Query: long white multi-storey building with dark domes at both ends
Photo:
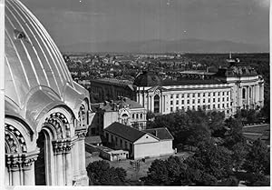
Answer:
[[209, 79], [181, 78], [161, 81], [152, 72], [143, 72], [134, 81], [137, 102], [155, 114], [178, 110], [205, 109], [234, 115], [238, 109], [256, 109], [264, 104], [264, 80], [253, 67], [228, 60], [228, 68], [219, 69]]

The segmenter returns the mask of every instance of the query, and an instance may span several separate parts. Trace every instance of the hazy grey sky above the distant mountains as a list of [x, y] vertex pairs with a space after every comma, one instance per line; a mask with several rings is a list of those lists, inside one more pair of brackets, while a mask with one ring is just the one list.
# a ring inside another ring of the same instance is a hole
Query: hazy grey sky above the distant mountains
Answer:
[[198, 38], [269, 44], [269, 0], [21, 0], [58, 45]]

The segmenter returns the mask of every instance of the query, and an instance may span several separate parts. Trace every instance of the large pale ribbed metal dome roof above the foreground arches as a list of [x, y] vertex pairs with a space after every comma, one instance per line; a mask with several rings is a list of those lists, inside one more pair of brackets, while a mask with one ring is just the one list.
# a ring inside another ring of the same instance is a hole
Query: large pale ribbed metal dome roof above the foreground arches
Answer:
[[68, 105], [76, 113], [88, 96], [88, 91], [73, 82], [44, 26], [21, 2], [6, 0], [5, 101], [34, 122], [44, 109], [56, 105]]

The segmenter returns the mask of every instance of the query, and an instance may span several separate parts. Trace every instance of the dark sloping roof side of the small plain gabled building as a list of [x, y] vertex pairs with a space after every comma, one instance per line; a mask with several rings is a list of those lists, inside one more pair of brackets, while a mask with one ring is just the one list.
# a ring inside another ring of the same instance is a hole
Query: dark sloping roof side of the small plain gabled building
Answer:
[[118, 135], [121, 138], [124, 138], [131, 143], [135, 142], [141, 136], [145, 135], [146, 133], [139, 131], [131, 126], [122, 125], [121, 123], [114, 122], [112, 125], [109, 125], [107, 128], [104, 129], [111, 134]]

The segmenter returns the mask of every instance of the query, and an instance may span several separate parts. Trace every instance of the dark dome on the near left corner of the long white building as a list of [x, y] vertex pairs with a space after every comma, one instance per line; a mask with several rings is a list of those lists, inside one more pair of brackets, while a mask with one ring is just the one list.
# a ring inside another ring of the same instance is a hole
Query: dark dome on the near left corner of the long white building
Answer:
[[161, 85], [160, 77], [151, 71], [143, 71], [134, 80], [134, 85], [137, 86], [154, 86]]

